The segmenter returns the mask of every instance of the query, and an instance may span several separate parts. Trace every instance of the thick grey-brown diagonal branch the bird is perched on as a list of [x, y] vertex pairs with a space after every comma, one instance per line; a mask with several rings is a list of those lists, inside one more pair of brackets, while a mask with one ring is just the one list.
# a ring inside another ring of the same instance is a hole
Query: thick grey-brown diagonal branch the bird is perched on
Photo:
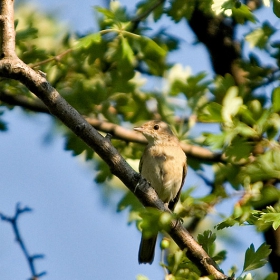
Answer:
[[[44, 75], [28, 67], [16, 56], [13, 0], [1, 0], [0, 30], [2, 32], [0, 75], [20, 81], [39, 97], [52, 115], [62, 121], [108, 164], [112, 174], [117, 176], [144, 206], [169, 212], [154, 189], [127, 164], [109, 139], [99, 134], [77, 110], [71, 107]], [[215, 279], [230, 279], [220, 272], [215, 262], [178, 221], [172, 221], [169, 234], [181, 249], [187, 248], [188, 257], [201, 268], [203, 275], [212, 275]]]

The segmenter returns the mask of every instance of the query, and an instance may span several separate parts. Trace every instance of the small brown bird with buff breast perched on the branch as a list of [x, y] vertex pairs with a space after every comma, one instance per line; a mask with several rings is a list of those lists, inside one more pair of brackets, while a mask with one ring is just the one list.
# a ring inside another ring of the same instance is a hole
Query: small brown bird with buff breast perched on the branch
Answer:
[[[179, 140], [162, 121], [149, 121], [134, 130], [142, 132], [148, 140], [139, 171], [151, 183], [159, 198], [173, 211], [187, 173], [187, 158]], [[138, 254], [140, 264], [153, 262], [156, 240], [157, 235], [144, 238], [142, 234]]]

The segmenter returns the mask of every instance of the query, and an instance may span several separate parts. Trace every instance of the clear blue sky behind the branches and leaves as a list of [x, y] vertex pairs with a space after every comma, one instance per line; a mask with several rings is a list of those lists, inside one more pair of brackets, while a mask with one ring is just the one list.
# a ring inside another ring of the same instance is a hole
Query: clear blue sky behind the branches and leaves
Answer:
[[[32, 2], [53, 11], [79, 32], [94, 30], [92, 6], [103, 5], [102, 1]], [[171, 60], [190, 65], [194, 73], [210, 71], [204, 47], [192, 46], [190, 32], [183, 39], [182, 48], [187, 46], [188, 52], [174, 55]], [[102, 202], [102, 186], [94, 184], [92, 167], [64, 151], [61, 135], [46, 144], [52, 129], [50, 116], [27, 116], [14, 109], [5, 113], [4, 120], [9, 131], [0, 134], [0, 211], [13, 215], [17, 202], [34, 209], [21, 217], [19, 225], [30, 253], [45, 254], [36, 262], [39, 271], [48, 273], [42, 279], [131, 280], [138, 274], [150, 280], [162, 279], [163, 270], [157, 265], [159, 249], [154, 265], [138, 265], [140, 233], [134, 225], [127, 225], [126, 212], [115, 214], [115, 205], [108, 207]], [[188, 180], [201, 184], [191, 173]], [[262, 243], [252, 228], [238, 229], [236, 235], [248, 238], [229, 250], [228, 261], [222, 265], [226, 270], [231, 264], [242, 264], [244, 248], [252, 242], [256, 247]], [[0, 260], [1, 279], [30, 277], [11, 227], [4, 222], [0, 222]]]

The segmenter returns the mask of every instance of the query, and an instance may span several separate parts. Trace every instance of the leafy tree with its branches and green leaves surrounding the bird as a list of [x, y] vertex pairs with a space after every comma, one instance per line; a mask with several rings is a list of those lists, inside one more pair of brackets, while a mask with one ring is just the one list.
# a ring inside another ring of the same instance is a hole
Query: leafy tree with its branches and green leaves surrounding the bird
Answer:
[[[12, 2], [1, 2], [2, 115], [20, 106], [54, 116], [66, 150], [93, 161], [96, 182], [122, 193], [118, 210], [129, 209], [129, 222], [151, 234], [162, 231], [165, 279], [253, 279], [251, 271], [267, 262], [265, 279], [278, 279], [280, 2], [143, 0], [128, 11], [112, 1], [95, 7], [98, 31], [82, 35], [20, 3], [14, 18]], [[264, 10], [272, 16], [260, 20]], [[179, 24], [205, 46], [213, 72], [192, 74], [170, 62], [172, 54], [188, 52], [176, 33]], [[202, 186], [187, 179], [176, 214], [137, 173], [146, 140], [132, 128], [152, 119], [172, 127], [188, 168], [207, 190], [197, 197]], [[8, 129], [1, 118], [0, 129]], [[236, 196], [230, 215], [213, 215]], [[210, 214], [211, 228], [201, 231]], [[233, 263], [223, 271], [229, 252], [216, 249], [215, 231], [245, 225], [265, 243], [248, 247], [242, 268]]]

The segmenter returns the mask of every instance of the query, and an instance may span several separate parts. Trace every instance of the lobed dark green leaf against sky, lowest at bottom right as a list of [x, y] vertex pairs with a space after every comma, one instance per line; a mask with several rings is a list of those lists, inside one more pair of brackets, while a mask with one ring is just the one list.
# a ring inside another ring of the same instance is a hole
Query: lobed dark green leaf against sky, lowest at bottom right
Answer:
[[267, 263], [266, 258], [271, 253], [269, 246], [263, 243], [257, 251], [253, 244], [246, 250], [243, 272], [254, 270]]

